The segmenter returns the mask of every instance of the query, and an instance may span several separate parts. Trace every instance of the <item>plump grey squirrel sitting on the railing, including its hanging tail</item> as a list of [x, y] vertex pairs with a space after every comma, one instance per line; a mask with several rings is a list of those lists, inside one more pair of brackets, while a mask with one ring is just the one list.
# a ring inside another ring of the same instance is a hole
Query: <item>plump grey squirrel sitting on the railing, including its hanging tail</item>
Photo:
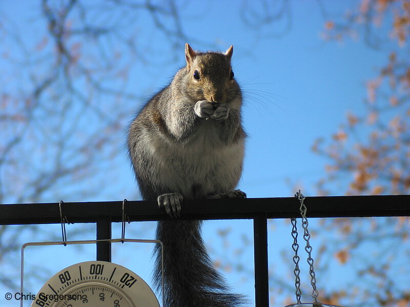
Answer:
[[[242, 95], [226, 52], [195, 52], [185, 45], [186, 67], [155, 94], [129, 127], [128, 150], [144, 200], [156, 200], [173, 219], [159, 221], [164, 246], [166, 307], [233, 307], [201, 237], [202, 221], [178, 221], [183, 199], [246, 198], [241, 177], [246, 134]], [[161, 286], [161, 253], [154, 248], [154, 282]]]

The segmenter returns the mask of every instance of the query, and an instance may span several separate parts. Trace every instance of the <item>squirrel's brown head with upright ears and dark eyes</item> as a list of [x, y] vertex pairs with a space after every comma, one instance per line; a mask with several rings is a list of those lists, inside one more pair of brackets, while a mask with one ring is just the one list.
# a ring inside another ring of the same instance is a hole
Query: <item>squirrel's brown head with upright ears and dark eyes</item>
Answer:
[[185, 44], [188, 93], [196, 100], [223, 103], [237, 95], [239, 86], [231, 67], [231, 46], [225, 53], [195, 52]]

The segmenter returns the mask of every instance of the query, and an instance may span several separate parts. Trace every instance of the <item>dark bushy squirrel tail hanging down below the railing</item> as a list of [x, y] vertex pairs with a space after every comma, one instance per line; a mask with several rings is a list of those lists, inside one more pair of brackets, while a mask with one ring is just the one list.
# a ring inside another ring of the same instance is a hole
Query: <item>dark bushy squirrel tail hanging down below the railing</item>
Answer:
[[[160, 221], [156, 237], [164, 245], [164, 307], [234, 307], [245, 303], [230, 294], [223, 277], [212, 268], [201, 237], [200, 221]], [[161, 252], [155, 250], [154, 280], [161, 289]]]

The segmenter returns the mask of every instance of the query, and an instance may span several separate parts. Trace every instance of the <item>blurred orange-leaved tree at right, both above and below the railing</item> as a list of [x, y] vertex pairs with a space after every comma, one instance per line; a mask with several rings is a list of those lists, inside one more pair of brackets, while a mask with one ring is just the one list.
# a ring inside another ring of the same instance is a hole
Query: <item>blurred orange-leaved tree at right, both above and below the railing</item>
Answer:
[[[331, 139], [321, 138], [313, 144], [315, 152], [329, 159], [327, 175], [318, 183], [320, 194], [332, 194], [336, 185], [347, 195], [410, 192], [409, 35], [409, 0], [361, 0], [359, 7], [347, 12], [341, 21], [325, 23], [325, 39], [362, 37], [371, 48], [388, 50], [388, 58], [378, 75], [366, 83], [366, 112], [347, 113], [346, 121]], [[397, 268], [403, 259], [408, 261], [410, 218], [320, 222], [321, 233], [336, 229], [339, 234], [322, 245], [319, 257], [326, 249], [335, 250], [334, 257], [341, 266], [353, 262], [356, 275], [354, 284], [326, 293], [326, 302], [410, 306], [408, 262]], [[377, 247], [370, 250], [368, 244], [372, 242], [377, 242]]]

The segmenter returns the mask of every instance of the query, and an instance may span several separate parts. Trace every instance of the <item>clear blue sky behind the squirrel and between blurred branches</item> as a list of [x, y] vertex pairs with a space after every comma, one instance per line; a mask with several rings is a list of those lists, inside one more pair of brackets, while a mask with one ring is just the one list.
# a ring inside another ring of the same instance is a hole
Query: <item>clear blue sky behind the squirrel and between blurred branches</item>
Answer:
[[[92, 3], [98, 5], [99, 2]], [[195, 38], [194, 42], [188, 41], [194, 49], [207, 50], [209, 46], [217, 46], [219, 50], [226, 50], [234, 45], [233, 69], [245, 96], [243, 123], [249, 135], [239, 188], [247, 192], [249, 198], [293, 196], [295, 187], [302, 188], [306, 196], [314, 195], [315, 184], [324, 176], [326, 163], [326, 160], [311, 151], [314, 140], [318, 137], [329, 139], [338, 130], [348, 111], [359, 114], [363, 112], [365, 81], [376, 76], [377, 68], [385, 63], [388, 53], [368, 48], [362, 41], [326, 42], [321, 37], [327, 19], [340, 16], [357, 3], [323, 2], [328, 14], [324, 16], [316, 1], [291, 2], [291, 26], [283, 35], [278, 36], [275, 33], [286, 29], [285, 19], [276, 24], [262, 25], [258, 30], [249, 29], [239, 17], [239, 1], [178, 2], [182, 26], [188, 37]], [[26, 33], [24, 39], [29, 45], [30, 40], [36, 39], [36, 28], [30, 24], [30, 20], [39, 16], [36, 1], [3, 1], [0, 3], [0, 10], [13, 17], [19, 31]], [[139, 18], [139, 25], [144, 26], [139, 26], [137, 32], [141, 34], [141, 43], [149, 47], [146, 56], [159, 64], [147, 67], [137, 60], [131, 68], [128, 90], [148, 98], [166, 85], [176, 70], [185, 64], [184, 46], [181, 44], [177, 59], [169, 60], [170, 49], [164, 43], [165, 38], [152, 28], [146, 15], [141, 14]], [[37, 23], [37, 27], [41, 27], [41, 24]], [[162, 56], [168, 58], [165, 63], [161, 62]], [[135, 105], [121, 106], [130, 110], [130, 117], [124, 119], [124, 134], [126, 124], [141, 103], [142, 101], [137, 101]], [[134, 177], [122, 150], [123, 140], [118, 140], [112, 146], [121, 148], [110, 173], [113, 184], [101, 190], [90, 201], [136, 198]], [[335, 190], [332, 193], [341, 195], [345, 190]], [[70, 201], [85, 200], [75, 199], [73, 195]], [[290, 228], [285, 222], [280, 220], [270, 224], [274, 229], [270, 235], [270, 263], [276, 271], [289, 277], [292, 272], [287, 272], [285, 267], [278, 267], [280, 249], [291, 246]], [[129, 226], [134, 229], [134, 233], [140, 234], [142, 238], [153, 237], [152, 223], [143, 228], [144, 232], [135, 224]], [[316, 225], [316, 222], [312, 225]], [[115, 231], [120, 234], [117, 226], [114, 226], [113, 237], [116, 237]], [[76, 227], [79, 225], [68, 227], [68, 236]], [[45, 226], [44, 229], [50, 233], [59, 232], [59, 225]], [[217, 229], [231, 229], [228, 242], [233, 247], [241, 245], [238, 234], [247, 233], [252, 236], [251, 221], [205, 223], [204, 237], [211, 244], [212, 255], [217, 259], [224, 255], [223, 242], [216, 235]], [[93, 238], [92, 232], [88, 235], [90, 237], [77, 239]], [[47, 240], [43, 237], [27, 239]], [[312, 245], [314, 246], [314, 242]], [[133, 249], [127, 252], [124, 250], [115, 250], [113, 261], [132, 267], [149, 281], [150, 260], [147, 253], [150, 253], [150, 248], [142, 248], [144, 256], [135, 258], [136, 252]], [[74, 262], [89, 260], [93, 257], [93, 252], [93, 247], [81, 252], [81, 255], [76, 250], [72, 255], [64, 250], [62, 256], [56, 256], [54, 252], [38, 251], [31, 258], [28, 256], [28, 261], [32, 263], [30, 261], [35, 262], [52, 255], [49, 267], [51, 271], [57, 272]], [[130, 254], [134, 260], [130, 259]], [[66, 259], [61, 260], [64, 255]], [[252, 270], [252, 248], [238, 257]], [[15, 267], [18, 266], [16, 260]], [[343, 270], [348, 272], [346, 268]], [[243, 276], [235, 273], [227, 274], [227, 277], [235, 290], [253, 299], [252, 280], [242, 282]], [[5, 291], [0, 290], [0, 302], [4, 300], [1, 292]]]

